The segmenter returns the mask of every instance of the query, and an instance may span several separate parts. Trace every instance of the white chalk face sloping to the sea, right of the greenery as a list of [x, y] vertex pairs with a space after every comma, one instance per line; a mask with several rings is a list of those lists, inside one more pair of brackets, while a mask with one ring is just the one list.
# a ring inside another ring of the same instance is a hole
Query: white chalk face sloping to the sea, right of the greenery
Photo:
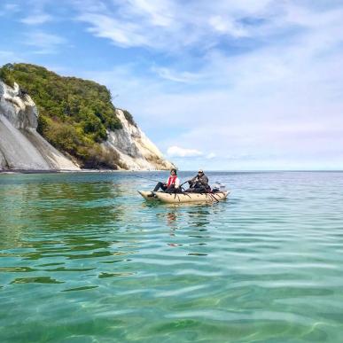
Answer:
[[106, 150], [119, 153], [121, 164], [129, 170], [170, 169], [175, 166], [163, 158], [162, 153], [144, 132], [129, 123], [124, 113], [117, 109], [123, 129], [108, 132], [108, 140], [103, 144]]

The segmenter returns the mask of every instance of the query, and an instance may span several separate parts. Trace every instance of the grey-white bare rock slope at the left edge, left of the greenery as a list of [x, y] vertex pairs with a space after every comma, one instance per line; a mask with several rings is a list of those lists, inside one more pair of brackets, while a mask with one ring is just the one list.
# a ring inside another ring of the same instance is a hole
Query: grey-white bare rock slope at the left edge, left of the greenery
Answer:
[[37, 118], [31, 97], [0, 81], [0, 170], [79, 169], [36, 132]]

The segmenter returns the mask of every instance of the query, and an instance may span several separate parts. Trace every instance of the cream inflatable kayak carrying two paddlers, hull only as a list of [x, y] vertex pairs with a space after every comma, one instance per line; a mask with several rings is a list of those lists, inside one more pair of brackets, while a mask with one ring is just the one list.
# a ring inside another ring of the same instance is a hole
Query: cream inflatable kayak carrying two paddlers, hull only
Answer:
[[224, 200], [230, 191], [216, 191], [214, 193], [165, 193], [164, 191], [138, 191], [146, 200], [160, 200], [168, 204], [179, 204], [185, 202], [207, 202], [213, 203]]

